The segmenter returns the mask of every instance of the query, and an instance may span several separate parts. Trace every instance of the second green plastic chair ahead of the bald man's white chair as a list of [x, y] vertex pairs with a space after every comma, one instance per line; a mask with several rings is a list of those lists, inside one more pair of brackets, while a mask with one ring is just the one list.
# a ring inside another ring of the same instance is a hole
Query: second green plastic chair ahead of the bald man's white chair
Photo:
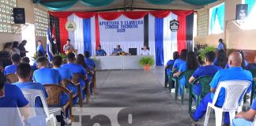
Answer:
[[178, 97], [178, 90], [179, 90], [179, 80], [181, 80], [183, 78], [183, 76], [185, 76], [185, 80], [186, 80], [186, 84], [185, 86], [183, 86], [182, 88], [182, 105], [183, 105], [183, 102], [184, 102], [184, 90], [185, 88], [188, 89], [189, 87], [189, 80], [190, 80], [190, 76], [192, 76], [192, 74], [194, 73], [194, 69], [189, 69], [189, 70], [186, 70], [185, 72], [181, 72], [180, 75], [178, 76], [178, 79], [176, 80], [177, 82], [175, 82], [175, 100], [177, 99]]

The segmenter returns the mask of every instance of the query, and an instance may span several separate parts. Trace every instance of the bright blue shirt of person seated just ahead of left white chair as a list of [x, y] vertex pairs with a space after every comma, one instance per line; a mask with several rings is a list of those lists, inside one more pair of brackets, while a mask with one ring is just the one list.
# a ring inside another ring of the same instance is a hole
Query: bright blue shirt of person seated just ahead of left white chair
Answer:
[[56, 69], [42, 68], [34, 72], [33, 80], [36, 83], [42, 84], [58, 84], [60, 82], [60, 76]]

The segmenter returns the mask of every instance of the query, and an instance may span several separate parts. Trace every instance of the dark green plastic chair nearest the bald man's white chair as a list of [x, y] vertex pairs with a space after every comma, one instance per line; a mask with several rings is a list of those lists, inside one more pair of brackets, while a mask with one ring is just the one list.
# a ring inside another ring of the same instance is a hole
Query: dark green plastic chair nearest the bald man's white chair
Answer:
[[[210, 86], [209, 83], [213, 80], [213, 76], [201, 76], [198, 77], [197, 79], [195, 79], [192, 83], [190, 83], [190, 97], [189, 97], [189, 111], [188, 113], [191, 112], [191, 106], [192, 106], [192, 96], [194, 96], [194, 98], [196, 98], [196, 108], [198, 108], [199, 103], [201, 101], [201, 98], [204, 98], [205, 95], [207, 95], [210, 91]], [[195, 95], [192, 91], [193, 86], [195, 84], [200, 83], [201, 85], [201, 94], [200, 95]]]

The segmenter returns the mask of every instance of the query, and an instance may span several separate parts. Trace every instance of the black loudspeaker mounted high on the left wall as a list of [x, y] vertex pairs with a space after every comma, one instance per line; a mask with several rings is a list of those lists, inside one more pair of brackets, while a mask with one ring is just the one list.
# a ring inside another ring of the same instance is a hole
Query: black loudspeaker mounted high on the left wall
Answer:
[[25, 24], [24, 8], [13, 8], [14, 24]]

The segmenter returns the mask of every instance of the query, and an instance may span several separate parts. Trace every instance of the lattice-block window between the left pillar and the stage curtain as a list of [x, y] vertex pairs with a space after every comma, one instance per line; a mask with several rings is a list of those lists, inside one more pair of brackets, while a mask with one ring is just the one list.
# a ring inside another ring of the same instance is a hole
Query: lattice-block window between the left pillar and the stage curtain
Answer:
[[47, 36], [48, 13], [41, 9], [34, 9], [36, 36]]

